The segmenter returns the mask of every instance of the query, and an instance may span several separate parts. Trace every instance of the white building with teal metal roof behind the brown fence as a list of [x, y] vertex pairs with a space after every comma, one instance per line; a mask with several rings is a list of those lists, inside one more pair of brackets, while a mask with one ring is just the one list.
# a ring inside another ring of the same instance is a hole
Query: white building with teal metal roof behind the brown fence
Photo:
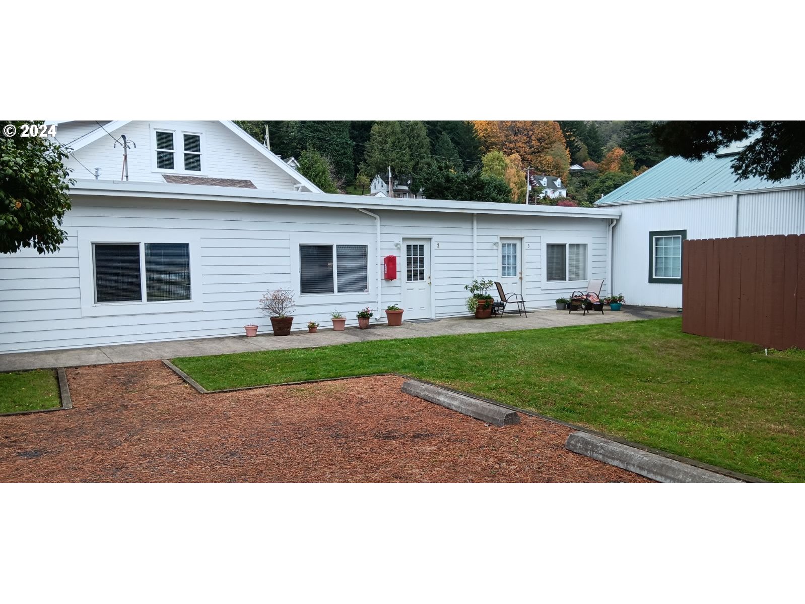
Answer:
[[681, 307], [682, 241], [805, 233], [805, 179], [737, 180], [742, 146], [701, 161], [669, 157], [596, 206], [619, 209], [613, 229], [613, 292], [630, 304]]

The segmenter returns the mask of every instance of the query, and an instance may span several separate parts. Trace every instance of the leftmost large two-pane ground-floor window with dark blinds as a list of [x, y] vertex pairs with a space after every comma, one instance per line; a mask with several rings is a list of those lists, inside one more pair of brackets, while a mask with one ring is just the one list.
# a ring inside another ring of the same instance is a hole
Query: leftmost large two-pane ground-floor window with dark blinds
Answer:
[[93, 257], [97, 304], [191, 299], [188, 243], [95, 243]]

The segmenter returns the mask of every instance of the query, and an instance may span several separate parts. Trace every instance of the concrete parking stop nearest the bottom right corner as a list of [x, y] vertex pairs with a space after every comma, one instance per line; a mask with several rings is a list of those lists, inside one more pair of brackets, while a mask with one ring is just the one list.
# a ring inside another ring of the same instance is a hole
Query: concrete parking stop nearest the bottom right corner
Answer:
[[658, 482], [741, 482], [588, 432], [572, 432], [564, 448]]

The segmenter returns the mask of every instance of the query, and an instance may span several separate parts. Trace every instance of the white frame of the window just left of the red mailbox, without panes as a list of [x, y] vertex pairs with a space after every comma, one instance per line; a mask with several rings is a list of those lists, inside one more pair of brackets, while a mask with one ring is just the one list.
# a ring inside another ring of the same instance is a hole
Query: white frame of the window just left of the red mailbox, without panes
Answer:
[[[322, 298], [333, 298], [335, 300], [344, 300], [349, 303], [349, 298], [353, 297], [358, 300], [359, 304], [367, 300], [369, 296], [376, 294], [377, 287], [374, 281], [377, 274], [373, 272], [378, 271], [376, 266], [377, 252], [374, 249], [374, 243], [369, 238], [363, 238], [360, 235], [334, 235], [328, 234], [320, 238], [311, 237], [309, 234], [303, 237], [291, 237], [291, 289], [294, 290], [299, 296], [299, 300], [321, 300]], [[366, 292], [336, 292], [338, 288], [338, 259], [336, 258], [336, 246], [366, 246]], [[302, 261], [300, 258], [300, 246], [332, 246], [332, 293], [320, 294], [303, 294], [302, 292]], [[341, 308], [339, 310], [342, 310]], [[342, 311], [343, 312], [343, 311]]]

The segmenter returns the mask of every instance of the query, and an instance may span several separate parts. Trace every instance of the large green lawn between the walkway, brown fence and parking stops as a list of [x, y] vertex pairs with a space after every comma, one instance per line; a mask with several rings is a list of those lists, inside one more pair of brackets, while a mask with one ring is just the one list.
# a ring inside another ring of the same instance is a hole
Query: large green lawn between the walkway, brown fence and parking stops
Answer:
[[176, 358], [208, 390], [397, 371], [745, 474], [805, 481], [805, 354], [681, 318]]

